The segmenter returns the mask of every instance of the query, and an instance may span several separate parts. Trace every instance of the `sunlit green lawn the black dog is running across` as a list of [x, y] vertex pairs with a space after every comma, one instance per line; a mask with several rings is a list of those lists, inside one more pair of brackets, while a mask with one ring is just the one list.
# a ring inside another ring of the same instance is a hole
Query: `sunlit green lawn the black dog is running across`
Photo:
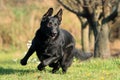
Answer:
[[52, 74], [51, 68], [38, 71], [38, 60], [33, 55], [26, 66], [19, 61], [24, 56], [21, 52], [0, 52], [0, 80], [120, 80], [120, 59], [74, 59], [66, 74], [60, 69]]

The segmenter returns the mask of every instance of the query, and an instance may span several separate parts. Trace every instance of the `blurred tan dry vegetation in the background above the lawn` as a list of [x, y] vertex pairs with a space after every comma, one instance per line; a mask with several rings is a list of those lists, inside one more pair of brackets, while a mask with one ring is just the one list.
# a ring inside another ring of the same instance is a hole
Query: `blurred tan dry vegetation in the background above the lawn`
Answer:
[[[0, 50], [26, 49], [27, 42], [40, 27], [41, 17], [50, 7], [54, 8], [54, 14], [63, 8], [57, 0], [0, 0]], [[76, 15], [63, 10], [61, 28], [72, 33], [77, 47], [81, 48], [80, 22]], [[113, 37], [119, 37], [120, 28], [113, 28], [111, 32]], [[120, 41], [116, 40], [110, 46], [119, 50]]]

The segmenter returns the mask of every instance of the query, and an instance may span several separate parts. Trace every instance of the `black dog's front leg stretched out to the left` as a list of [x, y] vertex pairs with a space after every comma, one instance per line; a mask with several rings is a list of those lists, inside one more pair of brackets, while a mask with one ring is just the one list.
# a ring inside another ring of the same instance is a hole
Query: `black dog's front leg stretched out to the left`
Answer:
[[27, 60], [33, 54], [34, 51], [35, 51], [35, 48], [34, 48], [33, 45], [31, 45], [31, 47], [29, 48], [29, 50], [28, 50], [27, 54], [25, 55], [25, 57], [20, 61], [21, 65], [26, 65], [27, 64]]

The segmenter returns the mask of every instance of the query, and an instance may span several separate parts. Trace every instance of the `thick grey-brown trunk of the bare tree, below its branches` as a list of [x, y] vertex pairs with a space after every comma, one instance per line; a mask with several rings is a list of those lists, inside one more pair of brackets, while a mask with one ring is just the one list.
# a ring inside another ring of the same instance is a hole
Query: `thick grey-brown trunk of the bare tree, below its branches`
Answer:
[[[95, 30], [94, 30], [95, 31]], [[94, 57], [109, 58], [109, 27], [108, 24], [96, 27]]]

